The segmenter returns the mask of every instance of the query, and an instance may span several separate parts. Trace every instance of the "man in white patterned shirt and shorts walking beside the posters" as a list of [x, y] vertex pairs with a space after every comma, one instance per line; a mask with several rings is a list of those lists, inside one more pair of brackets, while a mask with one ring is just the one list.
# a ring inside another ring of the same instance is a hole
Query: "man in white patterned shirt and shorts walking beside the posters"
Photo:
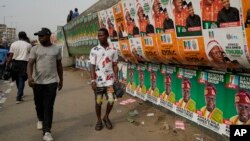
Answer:
[[[108, 129], [112, 129], [112, 124], [109, 120], [109, 114], [114, 104], [114, 89], [113, 84], [118, 81], [118, 54], [114, 47], [108, 43], [109, 33], [105, 28], [98, 30], [99, 45], [92, 48], [90, 52], [91, 63], [91, 85], [95, 93], [95, 110], [97, 123], [95, 130], [103, 128], [102, 121]], [[106, 96], [108, 103], [106, 114], [101, 119], [101, 106], [103, 95]]]

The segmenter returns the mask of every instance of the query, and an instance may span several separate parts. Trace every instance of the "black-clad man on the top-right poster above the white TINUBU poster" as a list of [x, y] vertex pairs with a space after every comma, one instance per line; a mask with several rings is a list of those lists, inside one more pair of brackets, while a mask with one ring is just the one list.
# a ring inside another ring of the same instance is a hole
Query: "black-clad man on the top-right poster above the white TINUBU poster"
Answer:
[[240, 21], [239, 10], [230, 6], [229, 0], [222, 0], [223, 8], [218, 13], [217, 22], [219, 26], [221, 23], [238, 22]]

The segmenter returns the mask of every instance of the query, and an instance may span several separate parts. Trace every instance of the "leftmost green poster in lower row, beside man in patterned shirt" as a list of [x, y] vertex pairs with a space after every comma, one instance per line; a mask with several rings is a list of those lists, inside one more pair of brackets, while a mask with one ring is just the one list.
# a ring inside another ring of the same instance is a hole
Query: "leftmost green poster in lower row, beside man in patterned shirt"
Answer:
[[132, 96], [135, 96], [136, 84], [138, 81], [138, 71], [136, 69], [136, 65], [129, 63], [127, 70], [127, 86], [126, 92]]

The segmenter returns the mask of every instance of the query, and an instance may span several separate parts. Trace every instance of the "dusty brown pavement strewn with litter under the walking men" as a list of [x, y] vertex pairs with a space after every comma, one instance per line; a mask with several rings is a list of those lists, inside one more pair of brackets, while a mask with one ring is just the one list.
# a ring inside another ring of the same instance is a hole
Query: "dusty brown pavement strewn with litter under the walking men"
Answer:
[[[120, 101], [131, 98], [128, 95], [115, 103], [110, 117], [114, 129], [104, 128], [97, 132], [94, 130], [94, 96], [85, 76], [79, 70], [64, 71], [64, 87], [58, 92], [54, 107], [52, 134], [56, 141], [190, 141], [195, 140], [195, 134], [200, 134], [206, 141], [216, 140], [203, 128], [139, 99], [133, 98], [136, 102], [120, 105]], [[9, 82], [0, 81], [2, 94], [6, 90], [10, 93], [7, 94], [5, 103], [1, 104], [0, 140], [41, 141], [42, 132], [36, 130], [37, 118], [31, 89], [25, 87], [25, 101], [21, 104], [15, 104], [15, 86], [11, 87]], [[127, 118], [128, 112], [134, 109], [138, 110], [139, 115], [132, 117], [135, 120], [132, 124]], [[154, 113], [154, 116], [147, 117], [147, 113]], [[183, 120], [186, 130], [174, 130], [175, 120]], [[163, 123], [167, 123], [169, 129], [162, 126]]]

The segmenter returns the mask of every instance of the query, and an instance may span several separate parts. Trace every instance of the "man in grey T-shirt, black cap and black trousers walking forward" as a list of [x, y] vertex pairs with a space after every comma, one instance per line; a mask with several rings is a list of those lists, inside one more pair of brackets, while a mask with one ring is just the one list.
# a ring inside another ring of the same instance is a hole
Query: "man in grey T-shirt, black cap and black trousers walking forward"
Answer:
[[41, 45], [31, 49], [28, 63], [28, 82], [34, 92], [36, 113], [39, 120], [37, 129], [43, 129], [43, 140], [53, 141], [51, 135], [53, 106], [56, 90], [57, 88], [61, 90], [63, 85], [61, 50], [51, 43], [51, 31], [48, 28], [42, 28], [34, 35], [38, 35]]

